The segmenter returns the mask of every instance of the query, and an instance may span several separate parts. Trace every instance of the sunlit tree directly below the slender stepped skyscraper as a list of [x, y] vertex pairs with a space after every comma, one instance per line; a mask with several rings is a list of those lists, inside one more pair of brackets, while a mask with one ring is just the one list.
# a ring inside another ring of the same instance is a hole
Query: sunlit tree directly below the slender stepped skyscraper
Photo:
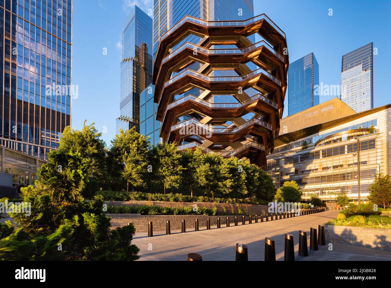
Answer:
[[122, 166], [122, 176], [127, 181], [126, 192], [129, 192], [129, 183], [133, 189], [147, 187], [146, 173], [151, 148], [148, 139], [133, 127], [125, 131], [120, 129], [111, 144], [110, 155], [115, 155], [117, 167]]

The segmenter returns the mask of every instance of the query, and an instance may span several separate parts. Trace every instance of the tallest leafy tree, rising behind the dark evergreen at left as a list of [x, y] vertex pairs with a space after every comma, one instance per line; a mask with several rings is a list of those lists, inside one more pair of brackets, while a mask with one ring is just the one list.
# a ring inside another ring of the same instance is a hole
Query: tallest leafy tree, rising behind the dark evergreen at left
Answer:
[[106, 179], [106, 143], [100, 139], [102, 133], [96, 130], [95, 123], [86, 125], [83, 122], [82, 130], [74, 130], [66, 126], [60, 139], [59, 149], [67, 152], [78, 152], [86, 165], [86, 177], [88, 182], [84, 194], [91, 197], [99, 187], [102, 187]]

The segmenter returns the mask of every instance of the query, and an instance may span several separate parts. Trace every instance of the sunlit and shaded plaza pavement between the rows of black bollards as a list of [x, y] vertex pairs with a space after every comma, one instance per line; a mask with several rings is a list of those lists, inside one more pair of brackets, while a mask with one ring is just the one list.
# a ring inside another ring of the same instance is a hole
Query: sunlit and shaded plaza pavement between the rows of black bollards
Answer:
[[[308, 247], [310, 246], [310, 228], [318, 228], [333, 218], [339, 211], [325, 211], [315, 214], [286, 218], [268, 222], [225, 227], [206, 230], [199, 227], [195, 232], [188, 229], [186, 233], [181, 230], [171, 230], [171, 235], [165, 235], [165, 231], [154, 231], [154, 237], [148, 237], [147, 232], [138, 232], [132, 243], [140, 248], [138, 261], [187, 261], [188, 253], [197, 253], [203, 257], [203, 261], [235, 261], [236, 243], [242, 243], [248, 247], [249, 261], [263, 261], [265, 249], [265, 237], [275, 241], [276, 260], [284, 260], [285, 233], [293, 234], [296, 261], [323, 261], [323, 260], [389, 260], [391, 252], [370, 248], [355, 247], [334, 243], [333, 251], [328, 246], [319, 246], [318, 251], [308, 251], [308, 257], [298, 256], [299, 230], [307, 231]], [[254, 220], [253, 220], [254, 221]], [[247, 222], [248, 223], [248, 222]], [[327, 243], [326, 243], [327, 244]]]

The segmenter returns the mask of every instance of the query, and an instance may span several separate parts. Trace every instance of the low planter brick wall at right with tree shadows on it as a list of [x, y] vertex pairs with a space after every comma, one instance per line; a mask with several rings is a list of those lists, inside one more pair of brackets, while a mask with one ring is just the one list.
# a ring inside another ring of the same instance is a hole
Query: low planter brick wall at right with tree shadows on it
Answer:
[[327, 243], [391, 251], [391, 229], [325, 225]]

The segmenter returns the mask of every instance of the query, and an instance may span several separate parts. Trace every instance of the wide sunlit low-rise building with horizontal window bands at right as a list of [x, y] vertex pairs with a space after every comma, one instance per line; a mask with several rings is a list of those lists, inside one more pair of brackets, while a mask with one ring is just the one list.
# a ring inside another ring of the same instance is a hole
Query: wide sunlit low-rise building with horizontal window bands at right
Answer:
[[356, 113], [334, 98], [281, 119], [280, 127], [266, 171], [277, 188], [296, 181], [304, 202], [317, 195], [335, 207], [346, 193], [358, 203], [360, 191], [368, 203], [375, 175], [391, 173], [391, 104]]

